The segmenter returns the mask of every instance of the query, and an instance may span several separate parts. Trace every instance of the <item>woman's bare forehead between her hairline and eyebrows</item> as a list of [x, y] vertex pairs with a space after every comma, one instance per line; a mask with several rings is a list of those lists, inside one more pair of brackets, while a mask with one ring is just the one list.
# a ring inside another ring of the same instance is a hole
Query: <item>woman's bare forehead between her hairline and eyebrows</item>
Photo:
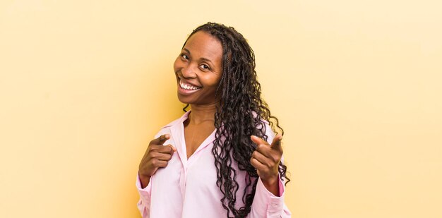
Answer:
[[205, 58], [211, 61], [221, 61], [222, 57], [222, 45], [213, 35], [208, 32], [198, 31], [195, 32], [186, 44], [184, 49], [188, 49], [191, 52], [191, 56], [194, 58]]

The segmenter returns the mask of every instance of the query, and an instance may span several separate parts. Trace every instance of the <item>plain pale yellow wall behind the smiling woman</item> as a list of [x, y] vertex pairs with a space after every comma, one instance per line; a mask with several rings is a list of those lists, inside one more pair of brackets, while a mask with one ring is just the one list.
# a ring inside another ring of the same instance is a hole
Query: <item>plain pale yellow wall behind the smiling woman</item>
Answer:
[[139, 217], [172, 63], [207, 21], [256, 52], [293, 217], [442, 217], [441, 1], [0, 1], [0, 217]]

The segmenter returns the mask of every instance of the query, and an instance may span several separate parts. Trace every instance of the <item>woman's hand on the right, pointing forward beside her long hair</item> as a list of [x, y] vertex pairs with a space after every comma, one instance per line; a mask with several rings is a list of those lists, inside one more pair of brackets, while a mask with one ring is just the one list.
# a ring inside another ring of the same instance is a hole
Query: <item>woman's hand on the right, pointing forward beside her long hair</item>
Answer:
[[257, 170], [265, 188], [277, 196], [279, 195], [278, 167], [282, 157], [282, 135], [277, 134], [273, 138], [272, 145], [255, 135], [251, 135], [250, 138], [253, 143], [256, 143], [256, 150], [251, 155], [250, 163]]

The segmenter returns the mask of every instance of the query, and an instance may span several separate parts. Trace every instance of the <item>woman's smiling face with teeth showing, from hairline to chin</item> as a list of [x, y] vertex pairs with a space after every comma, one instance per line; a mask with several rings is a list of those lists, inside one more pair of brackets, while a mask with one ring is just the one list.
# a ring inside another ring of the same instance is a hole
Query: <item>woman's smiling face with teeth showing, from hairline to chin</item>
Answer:
[[185, 104], [214, 104], [222, 75], [222, 45], [208, 32], [195, 32], [174, 63], [178, 99]]

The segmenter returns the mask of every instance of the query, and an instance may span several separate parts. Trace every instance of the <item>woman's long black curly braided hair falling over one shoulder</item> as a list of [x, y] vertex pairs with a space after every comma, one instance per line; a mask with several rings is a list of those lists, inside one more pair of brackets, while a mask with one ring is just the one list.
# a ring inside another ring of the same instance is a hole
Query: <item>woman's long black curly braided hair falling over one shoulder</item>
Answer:
[[[216, 133], [212, 149], [217, 169], [217, 186], [224, 195], [221, 199], [222, 207], [227, 211], [227, 217], [230, 214], [246, 217], [251, 210], [258, 182], [256, 169], [250, 164], [251, 154], [256, 149], [250, 135], [267, 140], [264, 121], [270, 123], [273, 131], [276, 126], [284, 135], [284, 130], [261, 98], [255, 55], [243, 35], [232, 27], [210, 22], [193, 30], [191, 35], [198, 31], [210, 33], [222, 44], [222, 77], [216, 90], [216, 95], [220, 95], [220, 106], [215, 112]], [[183, 110], [186, 111], [187, 107], [189, 104]], [[242, 196], [244, 206], [239, 209], [235, 207], [239, 185], [232, 162], [237, 162], [238, 169], [247, 174]], [[278, 170], [287, 184], [290, 181], [286, 176], [287, 166], [280, 163]]]

